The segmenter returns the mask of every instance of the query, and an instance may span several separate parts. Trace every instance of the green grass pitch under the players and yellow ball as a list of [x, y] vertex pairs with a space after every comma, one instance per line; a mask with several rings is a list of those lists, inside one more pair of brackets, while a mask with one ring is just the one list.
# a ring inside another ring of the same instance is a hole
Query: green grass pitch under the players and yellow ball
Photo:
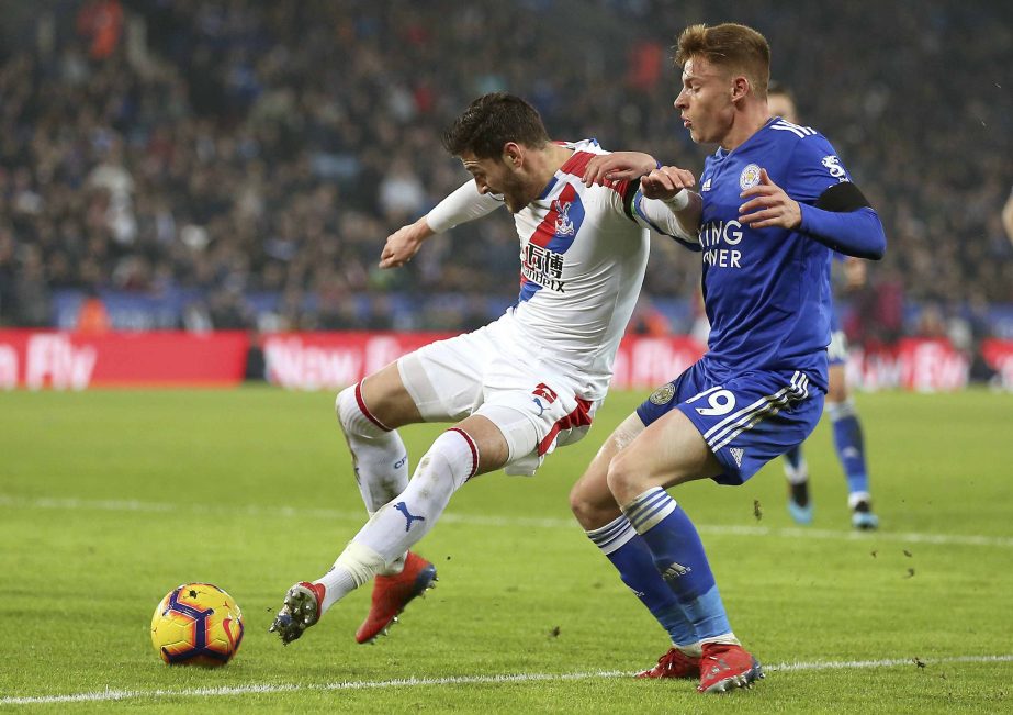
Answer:
[[[811, 527], [787, 515], [780, 465], [675, 490], [767, 667], [722, 696], [629, 677], [665, 634], [569, 513], [570, 484], [642, 396], [614, 393], [537, 478], [461, 490], [418, 547], [438, 588], [391, 636], [354, 644], [362, 589], [282, 648], [267, 629], [284, 590], [363, 521], [333, 395], [0, 393], [0, 711], [1013, 711], [1013, 395], [858, 395], [876, 534], [849, 528], [825, 422], [807, 444]], [[403, 431], [413, 460], [439, 428]], [[151, 647], [155, 605], [183, 581], [243, 607], [225, 668], [169, 668]]]

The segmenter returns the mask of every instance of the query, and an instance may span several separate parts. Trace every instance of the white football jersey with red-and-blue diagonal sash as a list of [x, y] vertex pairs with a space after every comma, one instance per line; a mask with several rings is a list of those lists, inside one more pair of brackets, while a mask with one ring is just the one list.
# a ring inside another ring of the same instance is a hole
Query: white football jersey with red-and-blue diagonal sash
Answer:
[[[633, 203], [624, 197], [629, 182], [584, 186], [587, 163], [606, 154], [595, 139], [560, 144], [573, 156], [542, 195], [514, 214], [520, 295], [499, 322], [513, 325], [505, 350], [552, 365], [581, 396], [600, 400], [643, 282], [649, 224], [624, 205]], [[439, 233], [500, 205], [469, 181], [434, 208], [427, 223]]]

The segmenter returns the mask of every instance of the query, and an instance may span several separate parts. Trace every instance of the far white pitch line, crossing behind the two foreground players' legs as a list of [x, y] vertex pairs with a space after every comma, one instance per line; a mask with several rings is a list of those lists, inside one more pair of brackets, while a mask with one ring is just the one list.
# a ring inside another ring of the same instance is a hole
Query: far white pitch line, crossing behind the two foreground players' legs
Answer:
[[[137, 500], [97, 500], [76, 498], [24, 499], [0, 494], [0, 507], [53, 509], [69, 511], [187, 513], [187, 514], [241, 514], [245, 516], [274, 516], [285, 518], [325, 518], [344, 522], [364, 522], [365, 511], [344, 512], [334, 509], [303, 509], [295, 506], [258, 506], [250, 504], [173, 504], [169, 502], [142, 502]], [[451, 524], [472, 526], [503, 526], [521, 528], [577, 528], [576, 522], [567, 518], [534, 518], [526, 516], [495, 516], [483, 514], [444, 513], [440, 520]], [[994, 546], [1013, 548], [1013, 537], [984, 536], [980, 534], [922, 534], [918, 532], [835, 532], [808, 527], [742, 526], [733, 524], [699, 524], [701, 534], [717, 536], [775, 536], [789, 539], [829, 539], [845, 541], [897, 541], [902, 544], [939, 544], [955, 546]]]

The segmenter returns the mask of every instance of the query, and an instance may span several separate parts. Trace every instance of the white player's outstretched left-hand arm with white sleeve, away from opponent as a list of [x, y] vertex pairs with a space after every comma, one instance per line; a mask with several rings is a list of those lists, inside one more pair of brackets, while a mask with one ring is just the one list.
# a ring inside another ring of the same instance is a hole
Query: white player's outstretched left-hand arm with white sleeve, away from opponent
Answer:
[[479, 193], [474, 181], [468, 181], [415, 223], [402, 226], [390, 236], [380, 254], [381, 268], [399, 268], [412, 260], [429, 236], [475, 219], [485, 216], [503, 202], [491, 194]]

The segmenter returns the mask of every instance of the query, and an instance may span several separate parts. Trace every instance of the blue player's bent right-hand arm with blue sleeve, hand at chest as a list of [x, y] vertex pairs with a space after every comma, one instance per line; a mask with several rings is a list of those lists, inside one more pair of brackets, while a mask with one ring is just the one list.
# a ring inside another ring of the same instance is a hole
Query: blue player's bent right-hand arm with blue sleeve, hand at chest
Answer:
[[826, 189], [815, 205], [799, 203], [759, 170], [759, 183], [741, 194], [739, 222], [751, 228], [779, 226], [808, 234], [846, 256], [879, 260], [887, 249], [887, 236], [879, 215], [849, 181]]

